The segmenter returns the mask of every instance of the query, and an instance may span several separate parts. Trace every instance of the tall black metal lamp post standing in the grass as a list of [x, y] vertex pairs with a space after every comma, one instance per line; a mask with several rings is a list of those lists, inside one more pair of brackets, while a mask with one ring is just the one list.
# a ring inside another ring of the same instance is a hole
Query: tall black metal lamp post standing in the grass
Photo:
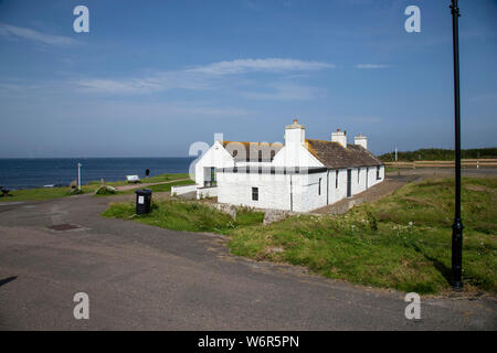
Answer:
[[454, 120], [455, 120], [455, 212], [452, 225], [452, 286], [463, 288], [463, 221], [461, 218], [461, 103], [459, 103], [459, 38], [457, 0], [451, 0], [454, 52]]

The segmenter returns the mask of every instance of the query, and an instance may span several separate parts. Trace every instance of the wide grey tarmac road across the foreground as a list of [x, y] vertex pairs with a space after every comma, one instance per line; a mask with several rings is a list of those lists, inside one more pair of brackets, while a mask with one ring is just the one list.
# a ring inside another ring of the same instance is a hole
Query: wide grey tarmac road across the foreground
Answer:
[[[422, 298], [229, 254], [226, 239], [99, 216], [115, 197], [0, 206], [1, 330], [496, 330], [488, 297]], [[52, 225], [81, 228], [52, 231]], [[73, 318], [75, 292], [89, 320]]]

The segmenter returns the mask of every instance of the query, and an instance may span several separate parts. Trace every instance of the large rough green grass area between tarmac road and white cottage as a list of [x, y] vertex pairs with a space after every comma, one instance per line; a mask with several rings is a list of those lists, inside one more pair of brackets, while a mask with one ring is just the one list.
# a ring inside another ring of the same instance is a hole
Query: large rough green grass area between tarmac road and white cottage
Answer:
[[[453, 180], [410, 183], [340, 216], [297, 215], [268, 226], [242, 210], [233, 221], [197, 202], [165, 201], [134, 220], [166, 228], [216, 232], [235, 255], [303, 265], [353, 284], [419, 293], [451, 288]], [[497, 179], [463, 179], [463, 277], [466, 290], [497, 293]], [[134, 205], [105, 213], [133, 217]]]

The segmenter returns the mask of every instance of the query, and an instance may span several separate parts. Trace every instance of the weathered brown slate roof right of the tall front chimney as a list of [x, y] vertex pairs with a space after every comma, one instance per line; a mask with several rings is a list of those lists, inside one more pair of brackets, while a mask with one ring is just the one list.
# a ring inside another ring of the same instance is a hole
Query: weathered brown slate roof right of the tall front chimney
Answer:
[[383, 162], [362, 146], [306, 139], [308, 151], [329, 169], [383, 165]]

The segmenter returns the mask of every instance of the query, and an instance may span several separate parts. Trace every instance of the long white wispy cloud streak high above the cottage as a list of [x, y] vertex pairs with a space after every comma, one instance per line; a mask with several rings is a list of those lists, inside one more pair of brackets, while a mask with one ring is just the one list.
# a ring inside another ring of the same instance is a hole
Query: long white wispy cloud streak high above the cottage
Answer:
[[[73, 81], [73, 84], [86, 92], [106, 94], [149, 94], [167, 89], [204, 90], [213, 89], [221, 82], [229, 84], [228, 77], [231, 75], [297, 73], [332, 67], [335, 67], [334, 64], [293, 58], [241, 58], [179, 71], [158, 72], [145, 77], [118, 79], [93, 77]], [[293, 88], [289, 85], [286, 87], [274, 86], [273, 88], [276, 89], [276, 93], [273, 94], [274, 97], [293, 95]], [[305, 92], [300, 89], [300, 93]], [[255, 95], [252, 97], [255, 97]], [[263, 97], [263, 94], [261, 97]], [[307, 95], [304, 94], [303, 97], [307, 97]]]

